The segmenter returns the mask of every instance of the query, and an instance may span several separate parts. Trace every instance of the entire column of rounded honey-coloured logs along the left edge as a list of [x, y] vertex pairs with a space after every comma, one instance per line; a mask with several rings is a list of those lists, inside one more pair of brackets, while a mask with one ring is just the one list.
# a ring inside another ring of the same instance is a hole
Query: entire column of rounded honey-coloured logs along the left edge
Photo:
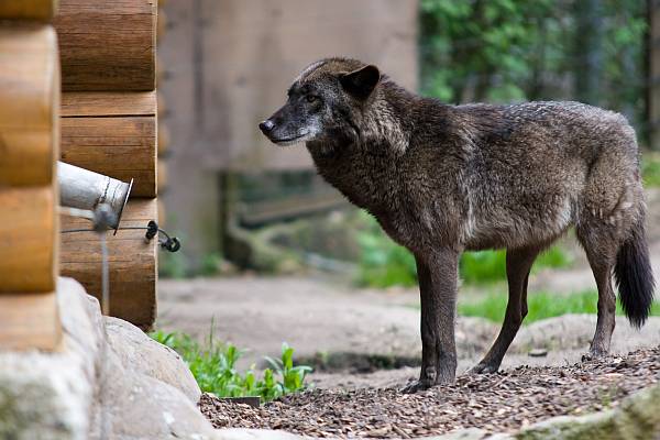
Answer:
[[[0, 2], [0, 349], [54, 350], [59, 62], [54, 2]], [[18, 19], [18, 20], [11, 20]]]

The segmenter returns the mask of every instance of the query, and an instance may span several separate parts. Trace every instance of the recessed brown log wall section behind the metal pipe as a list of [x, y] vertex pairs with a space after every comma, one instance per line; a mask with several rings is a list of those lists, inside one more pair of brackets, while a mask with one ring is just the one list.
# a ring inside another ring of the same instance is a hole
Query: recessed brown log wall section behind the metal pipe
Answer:
[[[157, 219], [156, 0], [59, 0], [62, 160], [134, 179], [121, 226]], [[63, 229], [88, 222], [62, 217]], [[157, 246], [144, 231], [107, 234], [110, 315], [148, 329], [156, 316]], [[62, 238], [62, 274], [101, 294], [101, 252], [92, 232]]]

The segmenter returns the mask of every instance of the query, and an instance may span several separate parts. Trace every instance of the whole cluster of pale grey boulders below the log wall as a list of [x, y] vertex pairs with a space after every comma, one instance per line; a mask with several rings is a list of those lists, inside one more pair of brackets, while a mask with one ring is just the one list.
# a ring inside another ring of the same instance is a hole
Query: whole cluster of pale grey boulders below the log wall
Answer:
[[[0, 353], [0, 439], [213, 439], [184, 362], [61, 278], [63, 345]], [[108, 328], [107, 334], [106, 329]]]

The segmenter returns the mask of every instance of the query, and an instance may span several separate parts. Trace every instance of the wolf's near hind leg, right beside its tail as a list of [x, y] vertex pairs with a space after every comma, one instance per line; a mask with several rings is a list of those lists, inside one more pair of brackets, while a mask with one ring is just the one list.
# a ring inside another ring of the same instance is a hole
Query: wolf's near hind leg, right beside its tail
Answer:
[[590, 354], [601, 356], [609, 352], [615, 326], [616, 296], [612, 288], [612, 271], [620, 241], [615, 227], [601, 224], [585, 229], [578, 228], [578, 239], [584, 248], [598, 288], [598, 318]]

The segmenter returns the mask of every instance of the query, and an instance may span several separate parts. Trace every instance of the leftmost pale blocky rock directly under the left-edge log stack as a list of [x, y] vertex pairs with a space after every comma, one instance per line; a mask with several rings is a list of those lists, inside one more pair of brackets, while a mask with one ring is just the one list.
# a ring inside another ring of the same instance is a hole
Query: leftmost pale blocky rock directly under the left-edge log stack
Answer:
[[102, 320], [98, 301], [68, 278], [57, 283], [63, 349], [0, 352], [0, 438], [87, 439]]

